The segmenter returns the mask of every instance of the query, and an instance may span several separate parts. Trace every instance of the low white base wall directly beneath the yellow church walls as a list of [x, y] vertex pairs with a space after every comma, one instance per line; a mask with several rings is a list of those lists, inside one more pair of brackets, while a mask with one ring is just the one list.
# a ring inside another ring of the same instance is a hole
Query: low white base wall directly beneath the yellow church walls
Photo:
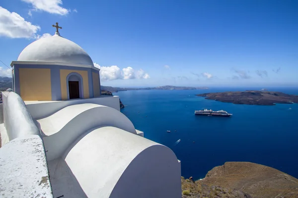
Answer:
[[83, 103], [103, 105], [120, 111], [119, 96], [100, 96], [97, 98], [66, 101], [25, 101], [32, 118], [36, 120], [48, 117], [67, 106]]

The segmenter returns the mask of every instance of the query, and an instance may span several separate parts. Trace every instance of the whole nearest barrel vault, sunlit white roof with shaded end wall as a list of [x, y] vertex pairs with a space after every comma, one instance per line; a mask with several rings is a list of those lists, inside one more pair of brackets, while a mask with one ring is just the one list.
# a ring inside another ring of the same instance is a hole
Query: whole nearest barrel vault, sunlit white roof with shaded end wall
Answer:
[[115, 127], [82, 135], [49, 171], [54, 197], [181, 198], [173, 151]]

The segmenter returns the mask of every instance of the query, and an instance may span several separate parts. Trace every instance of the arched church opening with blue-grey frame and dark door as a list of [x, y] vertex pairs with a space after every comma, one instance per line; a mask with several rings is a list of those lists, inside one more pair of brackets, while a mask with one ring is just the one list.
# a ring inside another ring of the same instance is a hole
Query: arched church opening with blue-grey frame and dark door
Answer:
[[72, 72], [66, 77], [67, 98], [84, 98], [83, 96], [83, 78], [79, 73]]

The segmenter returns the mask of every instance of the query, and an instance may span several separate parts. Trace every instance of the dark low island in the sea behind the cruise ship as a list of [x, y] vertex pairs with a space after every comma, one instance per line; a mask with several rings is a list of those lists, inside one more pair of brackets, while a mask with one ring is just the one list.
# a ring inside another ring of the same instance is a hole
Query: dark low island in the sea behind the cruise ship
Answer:
[[298, 96], [277, 91], [226, 91], [217, 93], [203, 93], [196, 96], [206, 97], [208, 100], [229, 102], [246, 105], [275, 105], [298, 103]]

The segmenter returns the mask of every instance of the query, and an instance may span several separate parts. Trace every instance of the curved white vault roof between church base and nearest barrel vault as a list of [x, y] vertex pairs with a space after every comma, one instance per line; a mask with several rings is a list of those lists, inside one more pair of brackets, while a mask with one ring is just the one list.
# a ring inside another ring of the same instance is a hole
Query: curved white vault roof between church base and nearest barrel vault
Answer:
[[76, 138], [95, 128], [112, 126], [137, 134], [134, 125], [124, 114], [97, 104], [68, 106], [37, 121], [43, 133], [48, 160], [60, 157]]

